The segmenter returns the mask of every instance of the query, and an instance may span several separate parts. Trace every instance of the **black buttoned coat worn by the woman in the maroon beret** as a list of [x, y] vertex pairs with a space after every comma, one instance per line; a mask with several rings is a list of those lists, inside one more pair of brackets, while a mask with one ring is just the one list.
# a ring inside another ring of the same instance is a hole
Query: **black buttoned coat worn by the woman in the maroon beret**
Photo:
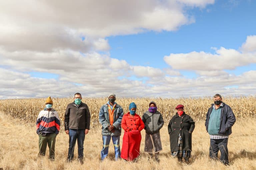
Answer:
[[182, 150], [192, 150], [192, 132], [194, 128], [195, 122], [185, 112], [181, 117], [179, 117], [178, 113], [172, 117], [168, 125], [171, 152], [178, 151], [179, 133], [182, 138]]

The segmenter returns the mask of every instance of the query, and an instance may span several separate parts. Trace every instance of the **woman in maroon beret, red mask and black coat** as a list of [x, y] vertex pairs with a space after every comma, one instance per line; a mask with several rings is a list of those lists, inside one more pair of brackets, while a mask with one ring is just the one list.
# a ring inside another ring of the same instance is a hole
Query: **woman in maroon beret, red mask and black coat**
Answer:
[[191, 157], [192, 132], [195, 128], [195, 122], [189, 115], [185, 114], [183, 105], [178, 105], [175, 109], [177, 109], [177, 113], [168, 125], [171, 154], [173, 157], [178, 157], [179, 161], [182, 161], [183, 157], [188, 162]]

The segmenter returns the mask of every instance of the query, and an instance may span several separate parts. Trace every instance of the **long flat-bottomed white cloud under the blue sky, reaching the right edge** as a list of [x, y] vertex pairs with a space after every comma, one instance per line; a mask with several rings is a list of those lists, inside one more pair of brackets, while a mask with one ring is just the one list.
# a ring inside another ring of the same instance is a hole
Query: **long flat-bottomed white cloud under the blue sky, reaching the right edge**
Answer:
[[235, 69], [239, 66], [256, 63], [255, 53], [240, 53], [235, 49], [221, 47], [216, 54], [201, 52], [190, 52], [170, 54], [164, 56], [164, 60], [173, 69], [187, 70], [223, 70]]

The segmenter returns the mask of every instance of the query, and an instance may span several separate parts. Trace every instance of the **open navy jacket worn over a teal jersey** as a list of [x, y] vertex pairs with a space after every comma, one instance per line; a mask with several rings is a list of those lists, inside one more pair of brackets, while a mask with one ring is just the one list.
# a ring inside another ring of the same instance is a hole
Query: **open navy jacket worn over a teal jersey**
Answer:
[[[206, 120], [205, 120], [205, 127], [206, 131], [208, 132], [208, 123], [209, 123], [209, 118], [212, 113], [213, 105], [208, 109], [208, 112], [206, 114]], [[220, 117], [220, 129], [219, 129], [219, 134], [220, 135], [230, 135], [232, 133], [232, 126], [236, 122], [235, 115], [232, 111], [232, 109], [223, 103], [223, 107], [221, 108], [221, 117]]]

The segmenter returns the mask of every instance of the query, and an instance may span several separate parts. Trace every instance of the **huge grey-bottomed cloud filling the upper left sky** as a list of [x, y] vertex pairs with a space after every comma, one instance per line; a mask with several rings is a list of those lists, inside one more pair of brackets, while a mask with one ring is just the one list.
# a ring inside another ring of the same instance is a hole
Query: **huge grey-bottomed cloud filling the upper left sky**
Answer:
[[[0, 46], [6, 50], [108, 50], [107, 36], [147, 30], [173, 31], [194, 22], [185, 5], [205, 6], [210, 0], [15, 0], [0, 3]], [[82, 37], [85, 40], [82, 41]]]

